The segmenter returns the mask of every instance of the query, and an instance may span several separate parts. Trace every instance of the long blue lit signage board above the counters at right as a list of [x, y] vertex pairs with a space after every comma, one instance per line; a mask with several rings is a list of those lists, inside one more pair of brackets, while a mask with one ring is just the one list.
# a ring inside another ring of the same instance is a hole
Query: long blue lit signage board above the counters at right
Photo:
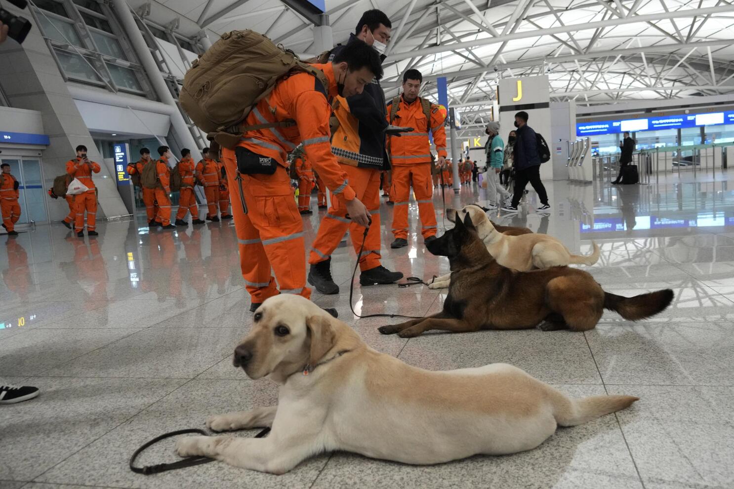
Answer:
[[709, 112], [707, 114], [678, 114], [628, 120], [598, 120], [578, 122], [576, 136], [618, 134], [642, 130], [697, 128], [705, 125], [734, 124], [734, 111]]

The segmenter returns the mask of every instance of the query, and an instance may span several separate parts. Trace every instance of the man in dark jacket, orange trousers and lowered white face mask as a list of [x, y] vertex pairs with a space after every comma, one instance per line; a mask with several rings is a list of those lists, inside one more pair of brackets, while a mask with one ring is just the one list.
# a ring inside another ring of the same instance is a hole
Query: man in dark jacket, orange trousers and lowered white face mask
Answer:
[[[365, 44], [371, 46], [375, 54], [382, 55], [390, 40], [391, 26], [385, 13], [368, 10], [357, 23], [355, 34], [349, 34], [349, 42], [336, 46], [330, 56], [337, 59], [349, 46]], [[337, 98], [334, 114], [339, 126], [331, 141], [332, 152], [341, 170], [349, 176], [350, 185], [367, 206], [372, 219], [360, 258], [360, 284], [363, 286], [393, 284], [403, 278], [402, 273], [389, 271], [380, 262], [379, 177], [381, 171], [389, 169], [390, 161], [385, 152], [385, 130], [388, 128], [385, 93], [379, 85], [379, 78], [376, 76], [367, 84], [364, 92]], [[331, 204], [319, 224], [319, 232], [308, 257], [311, 265], [308, 283], [328, 295], [339, 293], [339, 286], [331, 277], [331, 254], [347, 229], [352, 246], [358, 253], [365, 231], [360, 223], [349, 221], [347, 209], [338, 199], [332, 199]]]

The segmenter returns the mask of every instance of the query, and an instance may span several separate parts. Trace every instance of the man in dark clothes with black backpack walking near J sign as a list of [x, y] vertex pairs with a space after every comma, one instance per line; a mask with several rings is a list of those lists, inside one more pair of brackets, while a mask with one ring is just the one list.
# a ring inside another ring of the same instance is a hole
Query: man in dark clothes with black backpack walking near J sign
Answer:
[[528, 113], [526, 111], [515, 114], [515, 127], [517, 128], [517, 141], [515, 141], [513, 152], [515, 195], [512, 196], [512, 202], [502, 207], [502, 210], [517, 212], [517, 205], [520, 203], [520, 198], [523, 196], [528, 182], [533, 185], [540, 199], [540, 207], [537, 210], [549, 209], [551, 205], [548, 204], [548, 194], [545, 192], [545, 186], [540, 181], [540, 164], [542, 161], [539, 154], [540, 148], [538, 147], [539, 135], [528, 125]]

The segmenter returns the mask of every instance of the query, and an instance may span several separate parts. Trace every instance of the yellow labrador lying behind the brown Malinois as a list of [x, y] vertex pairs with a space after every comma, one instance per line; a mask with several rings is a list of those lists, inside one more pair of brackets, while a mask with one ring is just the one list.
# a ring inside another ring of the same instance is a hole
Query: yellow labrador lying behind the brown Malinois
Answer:
[[[556, 238], [539, 233], [511, 236], [499, 232], [492, 224], [487, 213], [479, 205], [465, 205], [462, 209], [446, 209], [446, 217], [456, 222], [457, 214], [463, 219], [467, 214], [487, 246], [487, 251], [497, 262], [507, 268], [515, 268], [520, 272], [535, 268], [551, 268], [571, 265], [594, 265], [599, 260], [600, 250], [597, 243], [592, 241], [594, 250], [588, 256], [571, 254], [570, 251]], [[451, 273], [437, 277], [429, 289], [446, 289], [451, 284]]]

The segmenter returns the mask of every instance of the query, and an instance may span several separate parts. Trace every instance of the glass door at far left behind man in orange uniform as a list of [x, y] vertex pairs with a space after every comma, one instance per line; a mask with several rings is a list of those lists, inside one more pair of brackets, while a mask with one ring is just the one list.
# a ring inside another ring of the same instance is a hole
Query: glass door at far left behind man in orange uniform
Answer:
[[18, 204], [21, 205], [21, 218], [18, 224], [27, 224], [30, 221], [36, 224], [48, 222], [40, 160], [31, 157], [4, 157], [2, 163], [10, 165], [10, 173], [20, 184]]

